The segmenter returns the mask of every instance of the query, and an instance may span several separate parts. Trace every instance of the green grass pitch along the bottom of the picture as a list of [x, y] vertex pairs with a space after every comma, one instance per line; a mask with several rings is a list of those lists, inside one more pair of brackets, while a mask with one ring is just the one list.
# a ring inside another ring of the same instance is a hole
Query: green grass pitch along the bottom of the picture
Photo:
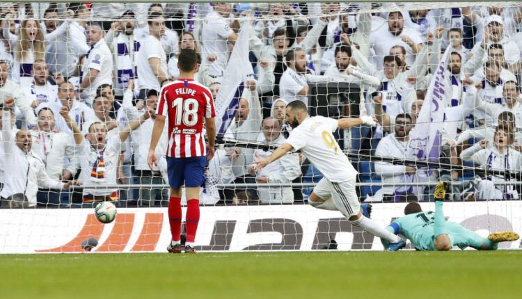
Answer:
[[0, 255], [0, 298], [522, 298], [522, 250]]

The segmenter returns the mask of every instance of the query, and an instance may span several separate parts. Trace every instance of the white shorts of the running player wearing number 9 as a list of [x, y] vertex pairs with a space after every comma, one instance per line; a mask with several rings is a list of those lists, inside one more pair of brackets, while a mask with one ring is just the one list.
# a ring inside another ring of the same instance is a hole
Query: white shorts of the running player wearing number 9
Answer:
[[355, 179], [333, 183], [323, 177], [315, 186], [314, 193], [325, 202], [333, 200], [335, 207], [347, 218], [357, 215], [361, 210], [361, 204], [355, 191]]

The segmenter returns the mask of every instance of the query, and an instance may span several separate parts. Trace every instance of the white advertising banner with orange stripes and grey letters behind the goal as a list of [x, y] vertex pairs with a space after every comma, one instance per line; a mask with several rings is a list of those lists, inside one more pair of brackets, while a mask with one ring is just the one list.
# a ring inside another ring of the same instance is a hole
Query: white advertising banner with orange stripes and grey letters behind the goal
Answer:
[[[372, 219], [386, 226], [404, 216], [406, 204], [373, 204]], [[434, 204], [422, 203], [425, 211]], [[445, 203], [450, 221], [482, 236], [522, 232], [522, 201]], [[171, 240], [167, 209], [118, 209], [104, 225], [94, 209], [0, 210], [0, 253], [83, 252], [81, 241], [99, 240], [93, 252], [166, 252]], [[185, 209], [183, 209], [183, 214]], [[200, 251], [318, 250], [330, 238], [338, 250], [382, 250], [381, 241], [352, 227], [336, 211], [308, 205], [201, 207], [196, 236]], [[519, 248], [520, 241], [500, 248]]]

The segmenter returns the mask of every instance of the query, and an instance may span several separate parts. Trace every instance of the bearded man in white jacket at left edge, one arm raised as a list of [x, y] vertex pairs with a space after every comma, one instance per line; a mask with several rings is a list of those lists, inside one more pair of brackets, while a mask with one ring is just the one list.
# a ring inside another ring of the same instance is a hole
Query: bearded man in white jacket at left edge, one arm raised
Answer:
[[[8, 99], [5, 106], [13, 106], [15, 100]], [[29, 208], [36, 206], [38, 188], [69, 189], [77, 181], [62, 183], [50, 179], [45, 164], [31, 150], [32, 136], [25, 129], [13, 134], [10, 111], [2, 110], [2, 147], [6, 156], [3, 188], [0, 192], [2, 207]]]

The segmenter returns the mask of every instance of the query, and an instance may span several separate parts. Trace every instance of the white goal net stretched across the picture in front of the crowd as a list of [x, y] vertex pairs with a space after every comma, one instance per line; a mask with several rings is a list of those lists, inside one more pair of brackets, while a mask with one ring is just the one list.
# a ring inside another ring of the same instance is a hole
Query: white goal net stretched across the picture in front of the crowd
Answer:
[[[164, 252], [168, 127], [152, 169], [148, 149], [187, 48], [217, 130], [196, 249], [381, 250], [335, 205], [308, 204], [323, 172], [354, 170], [363, 214], [383, 227], [411, 202], [433, 211], [448, 181], [448, 220], [522, 232], [519, 3], [1, 3], [0, 20], [0, 253], [94, 239], [96, 252]], [[303, 141], [349, 164], [301, 150], [255, 167], [303, 120], [285, 113], [294, 101], [352, 119]], [[118, 207], [106, 225], [103, 201]]]

